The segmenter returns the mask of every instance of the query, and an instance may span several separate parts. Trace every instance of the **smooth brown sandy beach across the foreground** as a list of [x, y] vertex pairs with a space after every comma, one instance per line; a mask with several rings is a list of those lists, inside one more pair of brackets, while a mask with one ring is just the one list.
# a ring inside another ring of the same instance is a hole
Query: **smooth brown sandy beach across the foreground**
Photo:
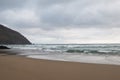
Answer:
[[0, 56], [0, 80], [120, 80], [120, 66]]

